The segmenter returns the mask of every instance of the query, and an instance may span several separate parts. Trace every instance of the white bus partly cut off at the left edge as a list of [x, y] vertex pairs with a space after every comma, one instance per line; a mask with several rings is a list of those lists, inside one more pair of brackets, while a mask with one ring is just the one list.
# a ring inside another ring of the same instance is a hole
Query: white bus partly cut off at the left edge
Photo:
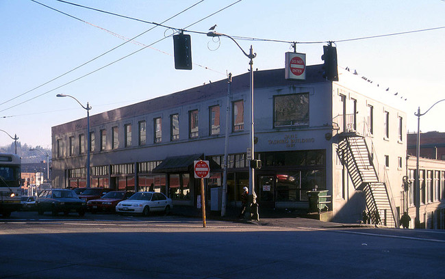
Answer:
[[0, 153], [0, 214], [10, 217], [21, 209], [21, 158], [15, 154]]

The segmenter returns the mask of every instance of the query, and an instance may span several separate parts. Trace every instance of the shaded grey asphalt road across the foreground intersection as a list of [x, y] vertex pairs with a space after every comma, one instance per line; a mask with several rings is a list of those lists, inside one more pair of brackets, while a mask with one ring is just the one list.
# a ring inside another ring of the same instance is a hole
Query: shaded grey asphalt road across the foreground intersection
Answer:
[[444, 231], [298, 218], [13, 213], [0, 245], [0, 278], [444, 278], [445, 260]]

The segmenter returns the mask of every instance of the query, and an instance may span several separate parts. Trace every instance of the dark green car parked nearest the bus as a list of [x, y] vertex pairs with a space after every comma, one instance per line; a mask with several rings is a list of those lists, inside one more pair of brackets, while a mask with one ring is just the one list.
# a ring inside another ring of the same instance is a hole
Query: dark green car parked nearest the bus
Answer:
[[51, 211], [53, 215], [58, 215], [59, 212], [65, 215], [77, 212], [79, 216], [84, 216], [86, 202], [79, 199], [73, 190], [48, 189], [40, 192], [36, 199], [36, 207], [39, 215], [43, 215], [45, 211]]

